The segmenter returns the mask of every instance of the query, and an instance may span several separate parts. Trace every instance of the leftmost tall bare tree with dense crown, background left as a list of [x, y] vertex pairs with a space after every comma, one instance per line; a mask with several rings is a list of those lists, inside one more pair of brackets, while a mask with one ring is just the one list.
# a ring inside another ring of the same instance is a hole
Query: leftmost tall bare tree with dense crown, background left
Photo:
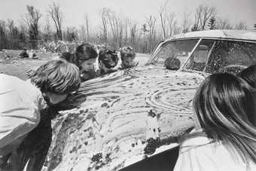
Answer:
[[24, 18], [26, 25], [28, 26], [29, 40], [32, 44], [32, 48], [35, 48], [39, 40], [39, 20], [42, 17], [39, 10], [36, 10], [35, 7], [26, 5], [28, 13]]

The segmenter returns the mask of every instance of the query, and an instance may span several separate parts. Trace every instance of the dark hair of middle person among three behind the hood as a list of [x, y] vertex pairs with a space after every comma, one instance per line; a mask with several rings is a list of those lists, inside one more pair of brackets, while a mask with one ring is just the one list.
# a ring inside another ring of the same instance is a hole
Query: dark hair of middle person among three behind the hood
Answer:
[[118, 62], [118, 57], [117, 57], [116, 51], [114, 51], [112, 49], [101, 49], [99, 51], [99, 58], [98, 58], [99, 63], [102, 62], [102, 64], [105, 65], [105, 67], [112, 68], [112, 66], [110, 66], [108, 64], [108, 57], [111, 57], [111, 59], [114, 61], [115, 66], [116, 66], [117, 62]]

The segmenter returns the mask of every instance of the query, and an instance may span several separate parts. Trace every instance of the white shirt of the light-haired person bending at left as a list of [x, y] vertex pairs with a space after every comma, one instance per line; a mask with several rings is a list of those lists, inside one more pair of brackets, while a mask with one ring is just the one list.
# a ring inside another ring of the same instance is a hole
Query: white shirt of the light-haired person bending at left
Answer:
[[42, 101], [30, 80], [0, 74], [0, 148], [38, 125]]

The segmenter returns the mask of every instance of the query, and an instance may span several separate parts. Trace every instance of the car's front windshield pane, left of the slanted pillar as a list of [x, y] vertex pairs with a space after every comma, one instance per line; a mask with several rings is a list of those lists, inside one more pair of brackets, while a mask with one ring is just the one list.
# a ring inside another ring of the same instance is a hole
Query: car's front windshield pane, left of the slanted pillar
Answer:
[[156, 52], [154, 52], [150, 63], [163, 65], [168, 58], [177, 58], [182, 66], [198, 40], [175, 40], [163, 43], [163, 45], [160, 44], [160, 48], [157, 48]]

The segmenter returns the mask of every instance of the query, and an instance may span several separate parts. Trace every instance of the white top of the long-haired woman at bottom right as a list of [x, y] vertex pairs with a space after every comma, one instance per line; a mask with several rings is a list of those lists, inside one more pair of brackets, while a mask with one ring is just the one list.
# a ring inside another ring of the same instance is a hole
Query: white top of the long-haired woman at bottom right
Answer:
[[185, 140], [179, 153], [175, 171], [256, 170], [255, 163], [247, 167], [239, 154], [234, 158], [224, 145], [211, 142], [205, 136]]

